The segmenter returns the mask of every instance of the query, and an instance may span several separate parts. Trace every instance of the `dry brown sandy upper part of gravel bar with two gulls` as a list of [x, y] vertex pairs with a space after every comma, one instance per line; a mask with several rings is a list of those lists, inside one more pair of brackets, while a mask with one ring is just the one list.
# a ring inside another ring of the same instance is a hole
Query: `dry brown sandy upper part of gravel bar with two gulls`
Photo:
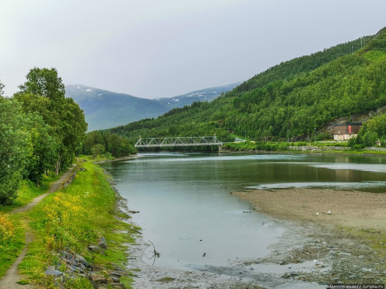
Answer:
[[252, 203], [258, 212], [281, 220], [386, 229], [386, 194], [297, 188], [234, 195]]

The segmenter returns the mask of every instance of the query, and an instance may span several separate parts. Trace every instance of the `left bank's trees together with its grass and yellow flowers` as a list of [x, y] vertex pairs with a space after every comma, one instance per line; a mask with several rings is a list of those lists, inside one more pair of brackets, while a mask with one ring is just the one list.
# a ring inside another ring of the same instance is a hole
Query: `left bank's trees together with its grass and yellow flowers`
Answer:
[[[56, 69], [34, 67], [26, 78], [12, 97], [3, 96], [0, 82], [0, 277], [24, 249], [26, 232], [33, 232], [34, 241], [19, 266], [27, 276], [21, 283], [33, 282], [45, 288], [54, 286], [52, 278], [44, 274], [46, 266], [60, 264], [54, 252], [68, 247], [82, 253], [80, 248], [87, 247], [84, 242], [96, 242], [101, 234], [117, 243], [109, 246], [106, 256], [87, 253], [90, 264], [91, 260], [104, 264], [101, 271], [111, 269], [112, 261], [122, 264], [126, 248], [122, 242], [130, 242], [127, 232], [131, 226], [114, 218], [115, 193], [100, 168], [91, 163], [85, 163], [73, 185], [46, 197], [28, 212], [12, 212], [47, 193], [50, 184], [74, 162], [75, 154], [87, 148], [83, 145], [87, 130], [83, 110], [64, 96], [64, 84]], [[127, 139], [108, 133], [104, 136], [103, 145], [89, 148], [94, 157], [135, 153]], [[66, 280], [71, 285], [65, 286], [91, 286], [87, 278], [73, 277]], [[122, 277], [121, 282], [129, 286], [130, 278]]]

